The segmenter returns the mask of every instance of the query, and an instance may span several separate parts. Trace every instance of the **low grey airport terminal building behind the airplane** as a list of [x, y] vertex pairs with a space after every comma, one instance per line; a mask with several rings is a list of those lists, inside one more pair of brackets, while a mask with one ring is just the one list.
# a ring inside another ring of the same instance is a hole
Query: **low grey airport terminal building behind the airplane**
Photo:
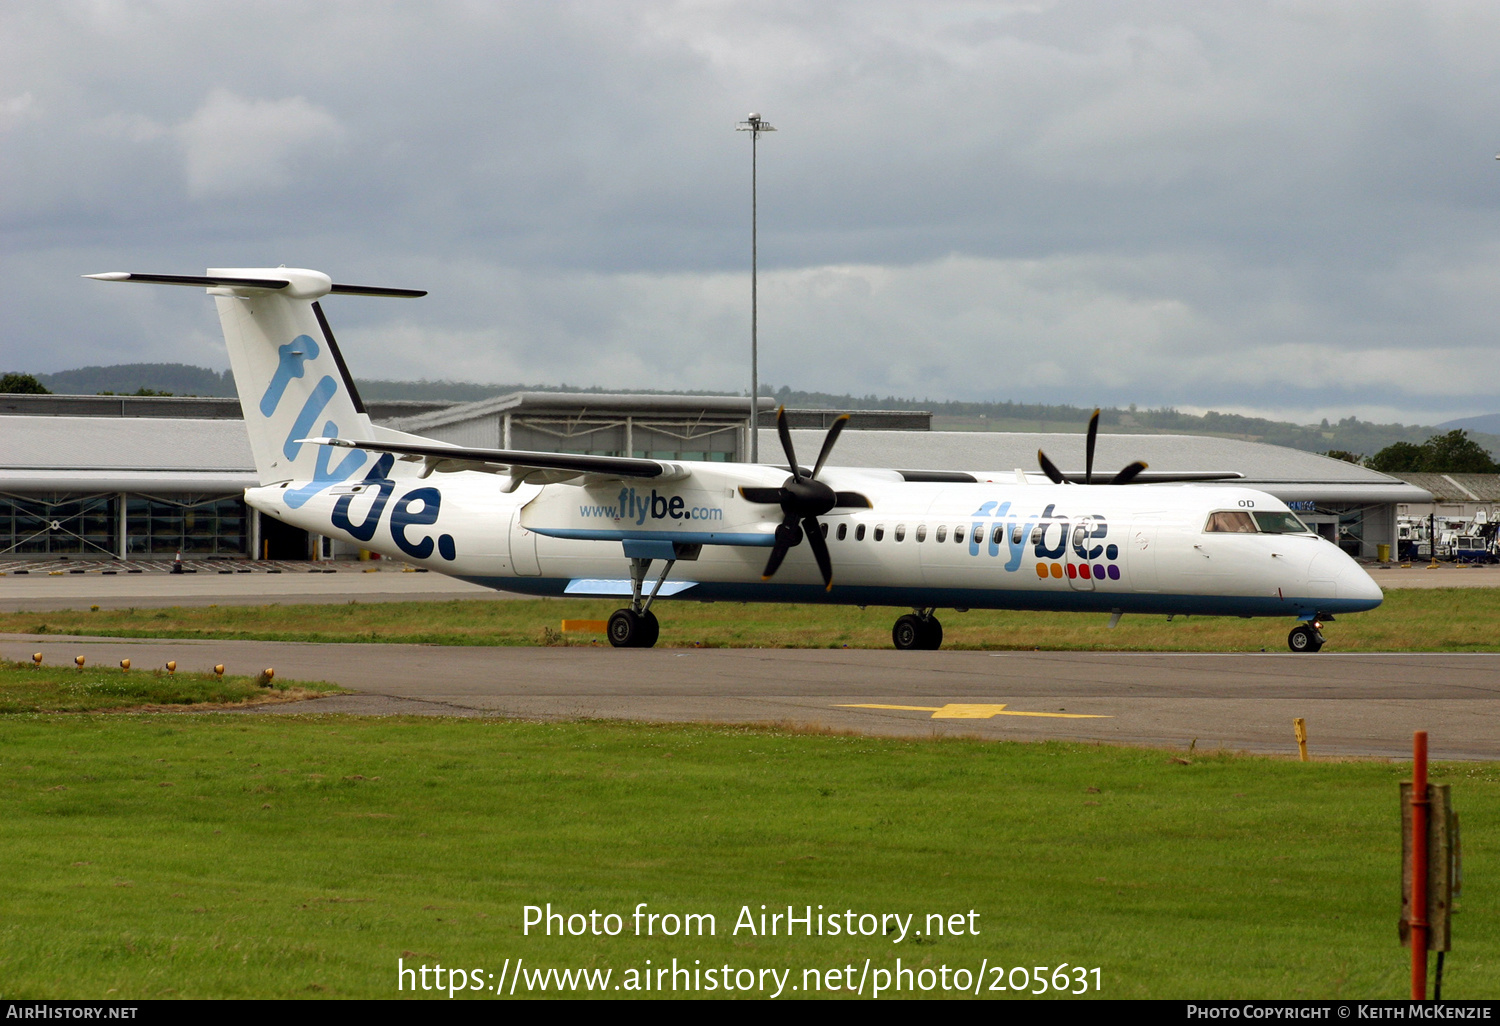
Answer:
[[[760, 400], [764, 462], [780, 462], [776, 404]], [[732, 396], [520, 392], [480, 402], [370, 402], [376, 423], [472, 447], [748, 459], [748, 408]], [[838, 411], [788, 411], [796, 452], [816, 456]], [[922, 412], [852, 411], [834, 460], [844, 466], [968, 471], [1014, 480], [1036, 450], [1083, 470], [1082, 434], [930, 430]], [[1398, 506], [1432, 502], [1407, 482], [1312, 453], [1190, 435], [1100, 435], [1095, 468], [1143, 459], [1156, 471], [1236, 471], [1292, 504], [1347, 552], [1395, 549]], [[0, 561], [356, 556], [264, 518], [237, 399], [0, 396]]]

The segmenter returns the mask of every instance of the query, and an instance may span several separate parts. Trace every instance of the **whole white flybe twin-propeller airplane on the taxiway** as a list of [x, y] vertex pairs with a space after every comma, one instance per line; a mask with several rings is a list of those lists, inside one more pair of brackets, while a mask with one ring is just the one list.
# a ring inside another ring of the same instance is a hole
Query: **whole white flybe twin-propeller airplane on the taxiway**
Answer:
[[1046, 477], [831, 466], [846, 418], [808, 468], [784, 412], [786, 466], [465, 448], [370, 423], [318, 304], [426, 292], [288, 267], [88, 278], [214, 297], [261, 480], [249, 506], [489, 588], [628, 597], [618, 648], [656, 644], [658, 598], [696, 598], [909, 606], [903, 650], [942, 644], [939, 608], [1290, 616], [1292, 651], [1316, 652], [1324, 621], [1383, 598], [1281, 500], [1182, 483], [1239, 474], [1137, 462], [1095, 484], [1098, 412], [1084, 471], [1038, 452]]

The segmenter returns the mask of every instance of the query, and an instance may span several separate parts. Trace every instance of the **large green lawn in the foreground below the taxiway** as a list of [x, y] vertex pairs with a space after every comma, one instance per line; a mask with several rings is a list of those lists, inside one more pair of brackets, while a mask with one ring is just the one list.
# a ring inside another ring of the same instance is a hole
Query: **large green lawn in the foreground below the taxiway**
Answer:
[[[790, 987], [900, 957], [1098, 966], [1108, 998], [1401, 998], [1407, 772], [744, 728], [8, 716], [0, 996], [393, 998], [398, 958], [614, 986], [675, 957]], [[1464, 816], [1444, 996], [1494, 998], [1500, 766], [1432, 776]], [[708, 912], [717, 933], [522, 936], [548, 902]], [[762, 903], [918, 928], [974, 909], [980, 934], [734, 936]]]

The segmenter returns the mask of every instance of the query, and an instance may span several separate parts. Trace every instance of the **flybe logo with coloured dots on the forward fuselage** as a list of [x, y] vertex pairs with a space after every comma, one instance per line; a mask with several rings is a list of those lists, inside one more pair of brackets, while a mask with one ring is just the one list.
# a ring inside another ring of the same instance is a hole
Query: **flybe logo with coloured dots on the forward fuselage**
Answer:
[[[1017, 572], [1029, 548], [1036, 562], [1038, 578], [1083, 578], [1084, 580], [1119, 580], [1119, 546], [1104, 542], [1110, 525], [1101, 513], [1071, 518], [1056, 513], [1056, 502], [1048, 502], [1040, 516], [1006, 516], [1008, 501], [984, 502], [976, 508], [972, 526], [964, 531], [969, 555], [986, 552], [990, 556], [1005, 556], [1005, 570]], [[978, 519], [990, 518], [990, 519]]]

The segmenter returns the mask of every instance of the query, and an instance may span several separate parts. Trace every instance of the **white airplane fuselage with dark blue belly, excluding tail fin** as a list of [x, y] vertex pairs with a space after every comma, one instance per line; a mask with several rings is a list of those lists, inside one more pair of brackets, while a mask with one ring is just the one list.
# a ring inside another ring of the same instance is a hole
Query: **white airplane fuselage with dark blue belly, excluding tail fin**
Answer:
[[820, 518], [832, 588], [806, 543], [762, 580], [777, 512], [740, 498], [735, 483], [756, 471], [778, 483], [784, 471], [682, 468], [690, 474], [680, 483], [504, 494], [490, 474], [454, 472], [338, 484], [297, 508], [280, 498], [297, 483], [250, 489], [248, 501], [316, 534], [536, 596], [626, 596], [627, 552], [656, 543], [680, 560], [662, 597], [702, 602], [1306, 618], [1382, 600], [1370, 576], [1316, 534], [1206, 530], [1214, 512], [1287, 510], [1248, 488], [928, 484], [848, 468], [825, 474], [872, 507]]

